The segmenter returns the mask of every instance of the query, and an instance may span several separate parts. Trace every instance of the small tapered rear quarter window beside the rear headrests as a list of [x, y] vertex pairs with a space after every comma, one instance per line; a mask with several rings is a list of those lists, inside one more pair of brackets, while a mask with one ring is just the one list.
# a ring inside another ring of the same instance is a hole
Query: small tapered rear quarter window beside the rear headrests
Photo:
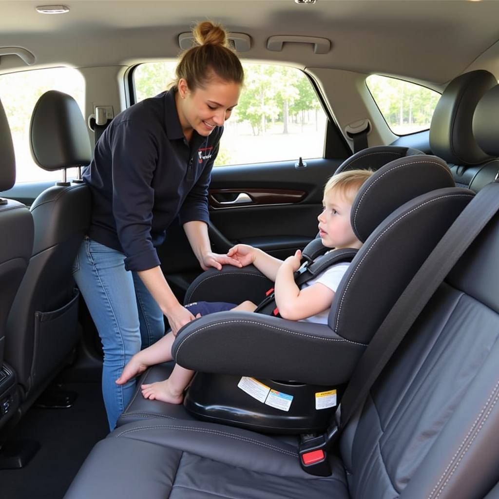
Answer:
[[368, 76], [366, 83], [393, 133], [406, 135], [430, 128], [438, 92], [378, 74]]

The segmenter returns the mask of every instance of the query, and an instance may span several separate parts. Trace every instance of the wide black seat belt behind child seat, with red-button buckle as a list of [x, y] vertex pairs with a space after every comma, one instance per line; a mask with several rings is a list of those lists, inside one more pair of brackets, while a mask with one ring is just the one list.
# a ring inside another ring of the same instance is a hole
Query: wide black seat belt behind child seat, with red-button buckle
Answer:
[[486, 185], [454, 221], [400, 295], [361, 356], [326, 433], [303, 436], [298, 452], [303, 470], [329, 476], [327, 451], [338, 439], [423, 308], [457, 261], [499, 210], [498, 181]]

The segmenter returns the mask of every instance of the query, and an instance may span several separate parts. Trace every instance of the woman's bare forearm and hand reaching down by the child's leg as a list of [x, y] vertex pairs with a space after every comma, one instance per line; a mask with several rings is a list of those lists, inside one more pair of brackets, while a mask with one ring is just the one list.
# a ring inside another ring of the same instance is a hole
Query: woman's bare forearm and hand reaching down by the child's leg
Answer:
[[168, 318], [173, 334], [176, 335], [182, 326], [194, 319], [194, 315], [179, 303], [160, 266], [139, 270], [137, 273]]

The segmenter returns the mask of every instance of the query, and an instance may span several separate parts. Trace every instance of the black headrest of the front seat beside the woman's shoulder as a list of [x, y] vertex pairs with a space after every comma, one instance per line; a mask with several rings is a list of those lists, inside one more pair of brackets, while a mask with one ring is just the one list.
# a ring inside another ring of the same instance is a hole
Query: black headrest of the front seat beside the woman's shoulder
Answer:
[[56, 90], [36, 103], [30, 124], [31, 154], [44, 170], [86, 166], [92, 149], [85, 120], [76, 101]]

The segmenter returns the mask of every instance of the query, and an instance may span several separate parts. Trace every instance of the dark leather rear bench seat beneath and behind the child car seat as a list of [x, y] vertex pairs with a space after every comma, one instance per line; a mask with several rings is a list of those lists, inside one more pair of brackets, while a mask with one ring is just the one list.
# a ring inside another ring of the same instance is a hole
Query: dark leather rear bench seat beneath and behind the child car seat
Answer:
[[303, 472], [292, 437], [154, 418], [99, 442], [65, 498], [484, 498], [499, 481], [498, 254], [496, 216], [345, 428], [332, 476]]

